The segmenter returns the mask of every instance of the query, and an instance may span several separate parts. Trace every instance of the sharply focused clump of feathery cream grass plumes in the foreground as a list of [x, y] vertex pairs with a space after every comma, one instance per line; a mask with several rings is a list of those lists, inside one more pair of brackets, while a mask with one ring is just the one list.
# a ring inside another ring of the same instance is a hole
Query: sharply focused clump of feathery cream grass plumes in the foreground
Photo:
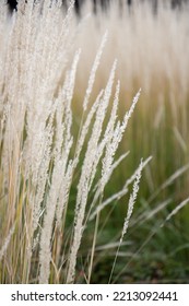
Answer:
[[[63, 15], [60, 2], [21, 0], [11, 17], [7, 5], [1, 4], [1, 283], [76, 282], [81, 242], [90, 220], [95, 219], [83, 263], [82, 282], [91, 282], [99, 212], [109, 200], [104, 199], [105, 188], [127, 155], [116, 160], [140, 95], [123, 119], [118, 119], [120, 82], [114, 90], [114, 61], [107, 84], [90, 106], [105, 34], [74, 133], [71, 104], [81, 50], [74, 52], [72, 61], [69, 59], [74, 3]], [[132, 178], [134, 191], [120, 244], [144, 163]], [[111, 197], [117, 200], [127, 192], [126, 185]]]

